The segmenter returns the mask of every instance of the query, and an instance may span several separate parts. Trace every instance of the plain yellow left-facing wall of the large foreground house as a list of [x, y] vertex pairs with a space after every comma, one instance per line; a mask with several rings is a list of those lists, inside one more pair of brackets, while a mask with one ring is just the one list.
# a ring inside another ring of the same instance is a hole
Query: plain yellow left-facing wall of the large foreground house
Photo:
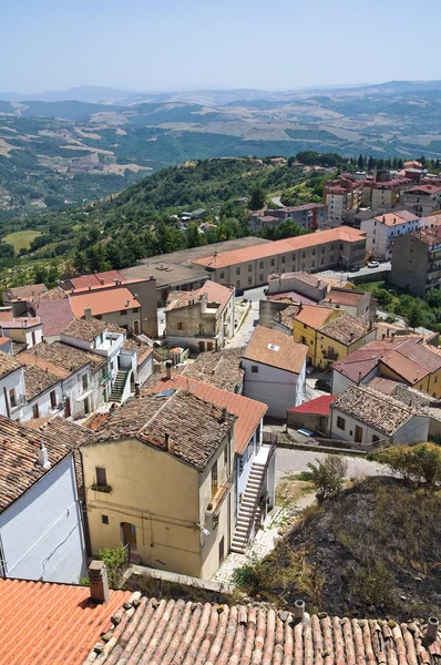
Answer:
[[[117, 548], [122, 522], [136, 526], [135, 552], [153, 567], [201, 576], [199, 474], [173, 456], [137, 440], [81, 449], [84, 485], [95, 481], [95, 467], [106, 470], [112, 493], [86, 490], [92, 552]], [[102, 523], [102, 515], [109, 524]]]

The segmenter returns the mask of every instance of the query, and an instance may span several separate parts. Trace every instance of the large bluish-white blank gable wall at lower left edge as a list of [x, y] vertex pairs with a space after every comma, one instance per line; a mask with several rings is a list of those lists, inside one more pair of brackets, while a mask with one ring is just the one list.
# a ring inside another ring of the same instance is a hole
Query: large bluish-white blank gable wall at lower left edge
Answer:
[[0, 532], [8, 576], [79, 582], [86, 556], [72, 454], [0, 515]]

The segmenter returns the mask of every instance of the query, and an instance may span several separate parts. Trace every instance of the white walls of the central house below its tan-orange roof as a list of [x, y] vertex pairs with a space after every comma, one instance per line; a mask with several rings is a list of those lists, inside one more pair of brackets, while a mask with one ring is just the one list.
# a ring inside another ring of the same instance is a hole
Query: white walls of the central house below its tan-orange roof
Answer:
[[[300, 375], [246, 358], [243, 359], [242, 366], [245, 369], [245, 397], [267, 405], [267, 416], [286, 419], [287, 410], [302, 402], [306, 364]], [[258, 372], [253, 372], [252, 366], [257, 366]]]

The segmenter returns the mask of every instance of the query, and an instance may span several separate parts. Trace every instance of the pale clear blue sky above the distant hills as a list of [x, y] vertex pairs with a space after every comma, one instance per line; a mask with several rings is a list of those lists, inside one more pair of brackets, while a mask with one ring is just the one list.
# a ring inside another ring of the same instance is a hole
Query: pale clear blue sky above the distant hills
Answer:
[[440, 79], [440, 0], [0, 0], [0, 91]]

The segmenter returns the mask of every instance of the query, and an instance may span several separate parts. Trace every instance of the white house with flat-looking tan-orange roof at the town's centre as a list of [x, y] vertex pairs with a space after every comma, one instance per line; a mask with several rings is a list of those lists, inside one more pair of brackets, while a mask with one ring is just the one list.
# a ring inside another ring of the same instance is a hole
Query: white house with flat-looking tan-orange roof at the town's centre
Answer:
[[286, 418], [305, 396], [308, 348], [291, 335], [256, 326], [246, 347], [244, 395], [268, 406], [268, 416]]

